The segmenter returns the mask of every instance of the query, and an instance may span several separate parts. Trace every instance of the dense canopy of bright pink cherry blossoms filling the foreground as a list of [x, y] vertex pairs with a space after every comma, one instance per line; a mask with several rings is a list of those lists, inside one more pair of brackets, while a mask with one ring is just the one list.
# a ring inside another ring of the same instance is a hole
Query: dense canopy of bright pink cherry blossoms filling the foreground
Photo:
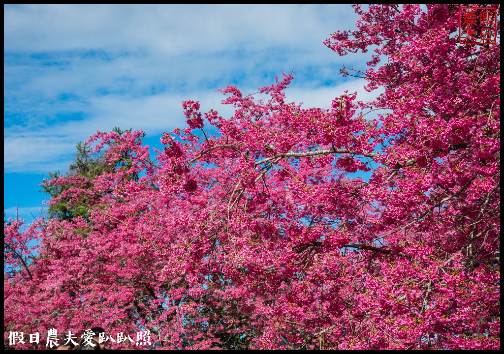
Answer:
[[155, 160], [141, 131], [91, 136], [108, 172], [47, 182], [87, 218], [4, 224], [5, 338], [499, 349], [500, 49], [459, 43], [460, 7], [355, 6], [325, 44], [374, 50], [373, 102], [303, 108], [284, 74], [268, 100], [221, 90], [231, 117], [183, 102]]

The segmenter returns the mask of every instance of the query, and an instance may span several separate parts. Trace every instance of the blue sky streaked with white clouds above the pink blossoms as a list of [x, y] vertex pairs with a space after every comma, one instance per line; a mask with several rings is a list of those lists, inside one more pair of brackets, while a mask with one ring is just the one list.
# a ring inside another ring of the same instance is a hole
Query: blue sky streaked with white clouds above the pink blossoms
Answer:
[[41, 215], [47, 173], [65, 172], [96, 130], [142, 129], [159, 147], [185, 127], [181, 101], [220, 105], [218, 88], [245, 92], [294, 71], [287, 100], [329, 108], [376, 92], [343, 78], [369, 54], [339, 57], [322, 44], [353, 29], [350, 5], [4, 5], [4, 208]]

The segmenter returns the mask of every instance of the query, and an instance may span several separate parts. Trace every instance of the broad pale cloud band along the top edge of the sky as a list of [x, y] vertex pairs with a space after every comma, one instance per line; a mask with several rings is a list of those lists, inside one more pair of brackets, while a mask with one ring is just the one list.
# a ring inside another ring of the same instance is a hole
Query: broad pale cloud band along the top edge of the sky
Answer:
[[[180, 55], [324, 40], [348, 5], [7, 5], [4, 50], [156, 48]], [[308, 43], [309, 44], [309, 43]]]

